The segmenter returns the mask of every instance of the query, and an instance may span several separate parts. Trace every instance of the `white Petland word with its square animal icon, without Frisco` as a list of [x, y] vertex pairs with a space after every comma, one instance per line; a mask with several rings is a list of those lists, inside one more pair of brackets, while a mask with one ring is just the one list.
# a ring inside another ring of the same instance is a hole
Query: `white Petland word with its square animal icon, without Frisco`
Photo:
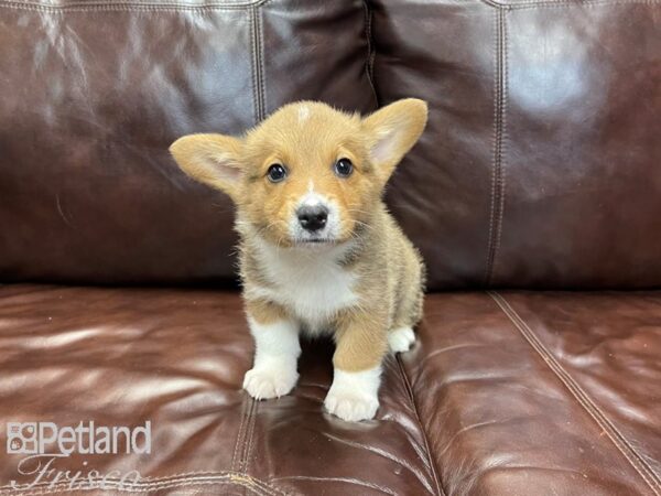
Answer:
[[[55, 451], [47, 451], [53, 446]], [[118, 454], [151, 453], [151, 422], [133, 429], [95, 425], [94, 421], [77, 427], [58, 428], [53, 422], [8, 422], [9, 454]]]

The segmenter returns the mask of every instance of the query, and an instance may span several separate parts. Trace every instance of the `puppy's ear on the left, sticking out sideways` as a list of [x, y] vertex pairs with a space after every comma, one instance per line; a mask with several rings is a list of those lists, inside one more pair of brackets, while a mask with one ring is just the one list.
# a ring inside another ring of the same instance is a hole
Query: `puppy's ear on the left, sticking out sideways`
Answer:
[[172, 143], [170, 153], [187, 175], [235, 200], [241, 177], [241, 140], [223, 134], [189, 134]]

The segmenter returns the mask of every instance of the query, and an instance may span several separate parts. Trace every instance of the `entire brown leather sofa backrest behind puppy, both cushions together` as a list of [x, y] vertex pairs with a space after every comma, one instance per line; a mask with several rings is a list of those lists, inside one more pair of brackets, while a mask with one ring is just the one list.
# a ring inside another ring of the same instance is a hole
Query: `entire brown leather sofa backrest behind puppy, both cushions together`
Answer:
[[639, 0], [0, 2], [0, 281], [234, 280], [232, 207], [167, 145], [373, 110], [373, 71], [430, 103], [387, 200], [431, 290], [661, 285], [660, 32]]

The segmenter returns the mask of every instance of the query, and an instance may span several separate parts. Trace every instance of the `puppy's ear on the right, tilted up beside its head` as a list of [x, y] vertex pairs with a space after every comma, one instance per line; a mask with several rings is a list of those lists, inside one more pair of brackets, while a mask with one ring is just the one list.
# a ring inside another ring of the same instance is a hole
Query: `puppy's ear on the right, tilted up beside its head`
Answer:
[[426, 119], [426, 103], [407, 98], [390, 104], [362, 120], [370, 160], [384, 181], [415, 144]]

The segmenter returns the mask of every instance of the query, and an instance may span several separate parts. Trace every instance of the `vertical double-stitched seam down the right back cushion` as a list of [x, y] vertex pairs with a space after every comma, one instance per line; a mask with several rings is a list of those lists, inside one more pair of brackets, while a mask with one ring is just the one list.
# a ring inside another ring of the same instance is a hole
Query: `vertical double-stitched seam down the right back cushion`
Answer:
[[487, 252], [487, 267], [485, 271], [485, 285], [490, 285], [494, 278], [494, 268], [500, 235], [502, 230], [502, 214], [505, 209], [505, 136], [507, 127], [507, 78], [508, 78], [508, 40], [505, 11], [497, 10], [495, 17], [496, 57], [495, 57], [495, 88], [494, 88], [494, 158], [491, 163], [491, 203], [489, 214], [489, 240]]

